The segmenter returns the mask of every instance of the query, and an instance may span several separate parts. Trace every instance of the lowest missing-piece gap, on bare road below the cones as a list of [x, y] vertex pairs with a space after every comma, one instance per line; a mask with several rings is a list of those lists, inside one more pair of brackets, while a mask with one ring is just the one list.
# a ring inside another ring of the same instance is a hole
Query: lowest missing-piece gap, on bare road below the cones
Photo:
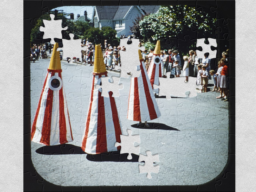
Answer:
[[146, 151], [146, 156], [141, 155], [139, 156], [139, 162], [144, 161], [144, 165], [139, 165], [140, 173], [147, 173], [147, 178], [152, 179], [151, 173], [158, 173], [159, 172], [159, 165], [154, 165], [154, 163], [159, 162], [159, 155], [151, 155], [150, 151]]

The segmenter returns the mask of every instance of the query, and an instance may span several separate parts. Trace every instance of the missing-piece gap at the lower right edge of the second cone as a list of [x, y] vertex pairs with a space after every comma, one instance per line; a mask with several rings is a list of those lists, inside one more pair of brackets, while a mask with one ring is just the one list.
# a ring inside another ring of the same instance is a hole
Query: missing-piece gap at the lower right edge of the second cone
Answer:
[[140, 147], [134, 143], [140, 143], [140, 135], [132, 135], [132, 130], [127, 129], [128, 135], [120, 135], [121, 143], [116, 142], [115, 147], [121, 146], [120, 154], [128, 153], [127, 159], [132, 159], [132, 153], [139, 155]]

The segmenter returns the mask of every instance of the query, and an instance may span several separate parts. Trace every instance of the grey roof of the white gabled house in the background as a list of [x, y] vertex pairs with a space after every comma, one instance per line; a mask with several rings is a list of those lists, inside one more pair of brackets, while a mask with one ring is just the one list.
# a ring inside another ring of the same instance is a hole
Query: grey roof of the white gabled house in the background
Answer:
[[[95, 6], [96, 10], [99, 16], [99, 20], [102, 19], [124, 19], [124, 17], [127, 15], [127, 13], [130, 11], [130, 8], [132, 6]], [[142, 14], [149, 14], [157, 12], [159, 9], [158, 5], [147, 5], [147, 6], [136, 6], [138, 7], [138, 10], [141, 11]]]

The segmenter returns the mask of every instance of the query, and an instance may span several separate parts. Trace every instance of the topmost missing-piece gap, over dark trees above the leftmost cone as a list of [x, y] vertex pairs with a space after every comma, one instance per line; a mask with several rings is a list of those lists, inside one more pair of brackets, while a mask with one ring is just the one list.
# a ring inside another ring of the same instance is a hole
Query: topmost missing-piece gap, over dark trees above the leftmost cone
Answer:
[[40, 26], [39, 30], [44, 32], [44, 39], [51, 38], [50, 43], [54, 44], [54, 38], [62, 39], [62, 30], [67, 30], [68, 26], [62, 28], [62, 20], [54, 20], [54, 14], [50, 14], [51, 20], [43, 20], [44, 27]]

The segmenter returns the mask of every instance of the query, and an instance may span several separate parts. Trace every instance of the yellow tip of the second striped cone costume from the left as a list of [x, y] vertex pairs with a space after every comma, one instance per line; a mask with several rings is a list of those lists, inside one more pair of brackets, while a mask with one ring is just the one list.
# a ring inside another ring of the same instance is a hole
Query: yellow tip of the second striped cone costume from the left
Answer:
[[106, 72], [106, 66], [104, 64], [104, 59], [100, 45], [95, 45], [95, 56], [94, 56], [94, 73], [104, 73]]

